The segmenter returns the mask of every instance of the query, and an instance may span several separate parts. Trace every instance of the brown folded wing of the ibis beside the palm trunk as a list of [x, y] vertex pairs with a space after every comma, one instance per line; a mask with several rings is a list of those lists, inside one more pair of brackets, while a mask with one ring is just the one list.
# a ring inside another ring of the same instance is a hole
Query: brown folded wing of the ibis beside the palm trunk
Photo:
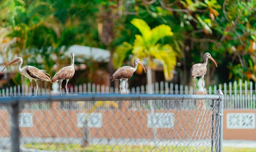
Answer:
[[110, 81], [114, 81], [115, 79], [130, 79], [134, 73], [134, 68], [131, 66], [124, 66], [118, 68], [116, 72], [111, 76]]

